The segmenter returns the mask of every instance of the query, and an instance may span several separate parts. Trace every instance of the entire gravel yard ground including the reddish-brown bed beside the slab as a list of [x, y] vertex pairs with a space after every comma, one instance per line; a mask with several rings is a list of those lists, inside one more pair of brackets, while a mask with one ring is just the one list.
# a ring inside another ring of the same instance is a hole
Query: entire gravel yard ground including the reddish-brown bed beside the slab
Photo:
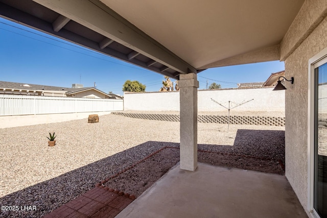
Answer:
[[[227, 132], [226, 124], [198, 123], [198, 161], [283, 175], [284, 130], [229, 125]], [[49, 132], [57, 135], [54, 147]], [[7, 217], [47, 214], [103, 181], [137, 197], [179, 161], [179, 122], [108, 114], [99, 123], [79, 119], [0, 129], [0, 135], [0, 204], [37, 207], [5, 211]]]

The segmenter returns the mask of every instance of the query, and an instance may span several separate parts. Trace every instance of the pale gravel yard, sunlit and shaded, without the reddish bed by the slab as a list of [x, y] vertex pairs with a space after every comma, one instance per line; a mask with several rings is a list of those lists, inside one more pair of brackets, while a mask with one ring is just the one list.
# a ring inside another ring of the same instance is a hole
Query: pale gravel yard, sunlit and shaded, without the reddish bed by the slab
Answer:
[[[278, 130], [281, 137], [285, 127], [229, 125], [227, 132], [227, 125], [198, 123], [199, 149], [215, 151], [209, 145], [223, 145], [220, 152], [233, 153], [238, 132], [243, 135], [238, 138], [237, 154], [253, 155], [254, 143], [256, 147], [267, 143], [258, 136], [266, 134], [261, 130]], [[48, 147], [49, 132], [56, 132], [55, 147]], [[273, 138], [274, 131], [268, 132], [266, 136]], [[257, 134], [255, 141], [251, 134]], [[178, 148], [179, 122], [109, 114], [95, 124], [81, 119], [6, 128], [0, 129], [0, 136], [0, 205], [37, 206], [37, 211], [5, 211], [0, 216], [39, 217], [161, 148]], [[248, 147], [241, 148], [242, 144]], [[265, 149], [274, 148], [263, 146], [256, 151], [261, 158], [267, 158]]]

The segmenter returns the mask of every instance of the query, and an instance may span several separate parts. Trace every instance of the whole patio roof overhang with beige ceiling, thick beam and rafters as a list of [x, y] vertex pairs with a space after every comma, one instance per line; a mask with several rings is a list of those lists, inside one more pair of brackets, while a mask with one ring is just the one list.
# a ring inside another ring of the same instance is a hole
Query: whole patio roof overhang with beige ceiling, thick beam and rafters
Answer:
[[303, 2], [0, 0], [0, 16], [179, 79], [284, 60], [308, 30], [288, 36]]

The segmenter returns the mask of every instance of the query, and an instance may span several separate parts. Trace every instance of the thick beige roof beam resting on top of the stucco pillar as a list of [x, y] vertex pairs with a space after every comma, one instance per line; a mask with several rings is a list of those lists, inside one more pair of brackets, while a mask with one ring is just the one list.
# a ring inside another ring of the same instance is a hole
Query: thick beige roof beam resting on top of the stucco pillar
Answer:
[[181, 74], [197, 73], [192, 65], [98, 0], [33, 1]]

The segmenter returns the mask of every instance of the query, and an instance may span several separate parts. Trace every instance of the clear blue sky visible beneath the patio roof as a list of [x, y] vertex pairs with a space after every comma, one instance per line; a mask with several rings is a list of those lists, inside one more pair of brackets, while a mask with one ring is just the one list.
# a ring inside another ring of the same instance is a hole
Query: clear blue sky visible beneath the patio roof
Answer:
[[[199, 89], [206, 88], [206, 81], [222, 88], [264, 82], [284, 68], [279, 61], [211, 68], [198, 74]], [[0, 18], [0, 81], [60, 87], [91, 87], [96, 82], [101, 91], [122, 95], [126, 80], [158, 91], [164, 76]]]

